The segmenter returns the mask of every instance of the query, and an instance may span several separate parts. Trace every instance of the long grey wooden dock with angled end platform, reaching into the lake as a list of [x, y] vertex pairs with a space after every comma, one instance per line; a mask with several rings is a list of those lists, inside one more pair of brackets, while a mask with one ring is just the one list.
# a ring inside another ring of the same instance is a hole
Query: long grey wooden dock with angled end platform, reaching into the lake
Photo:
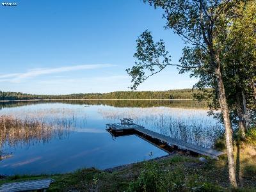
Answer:
[[120, 133], [126, 133], [129, 132], [132, 134], [136, 134], [138, 136], [145, 136], [145, 137], [150, 137], [150, 138], [154, 138], [156, 140], [159, 140], [163, 143], [167, 143], [168, 145], [171, 146], [175, 146], [177, 148], [179, 148], [180, 150], [189, 150], [191, 152], [194, 152], [196, 154], [202, 154], [204, 156], [209, 156], [212, 157], [214, 159], [218, 159], [218, 156], [223, 155], [223, 152], [220, 152], [218, 150], [214, 150], [212, 148], [205, 148], [199, 145], [194, 145], [191, 143], [187, 143], [186, 141], [181, 141], [181, 140], [177, 140], [175, 138], [170, 138], [169, 136], [165, 136], [163, 134], [159, 134], [157, 132], [154, 131], [150, 131], [148, 129], [145, 129], [143, 126], [141, 125], [137, 125], [134, 124], [133, 122], [131, 122], [130, 124], [122, 124], [122, 123], [118, 123], [118, 124], [107, 124], [108, 127], [108, 131], [109, 132], [113, 132], [114, 134], [120, 134]]

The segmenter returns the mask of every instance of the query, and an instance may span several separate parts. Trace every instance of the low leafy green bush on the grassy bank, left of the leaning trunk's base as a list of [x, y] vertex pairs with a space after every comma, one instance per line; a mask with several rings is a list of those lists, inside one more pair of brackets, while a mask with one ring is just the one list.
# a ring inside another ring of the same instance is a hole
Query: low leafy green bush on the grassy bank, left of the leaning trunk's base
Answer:
[[223, 191], [199, 175], [186, 174], [177, 164], [173, 170], [164, 170], [157, 163], [146, 163], [138, 179], [130, 182], [128, 191]]

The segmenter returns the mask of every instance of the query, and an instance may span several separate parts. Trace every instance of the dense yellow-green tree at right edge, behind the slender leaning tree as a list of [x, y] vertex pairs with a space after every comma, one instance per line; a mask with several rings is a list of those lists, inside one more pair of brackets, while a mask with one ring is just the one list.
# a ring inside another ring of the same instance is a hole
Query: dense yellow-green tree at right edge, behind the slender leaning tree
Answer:
[[[228, 18], [227, 44], [232, 45], [230, 54], [223, 58], [225, 81], [228, 90], [234, 90], [235, 110], [239, 129], [244, 136], [249, 127], [247, 105], [253, 108], [253, 79], [256, 71], [256, 4], [255, 0], [239, 3]], [[225, 47], [224, 47], [225, 48]], [[225, 52], [223, 49], [222, 52]], [[232, 96], [232, 95], [231, 95]], [[231, 99], [230, 99], [231, 100]]]

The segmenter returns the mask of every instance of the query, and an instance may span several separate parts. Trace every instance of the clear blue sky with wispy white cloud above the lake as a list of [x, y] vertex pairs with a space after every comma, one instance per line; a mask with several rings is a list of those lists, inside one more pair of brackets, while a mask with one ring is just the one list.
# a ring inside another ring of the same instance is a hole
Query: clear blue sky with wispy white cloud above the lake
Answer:
[[[4, 1], [5, 2], [5, 1]], [[129, 90], [136, 38], [146, 29], [179, 61], [184, 44], [141, 0], [19, 0], [0, 5], [0, 90], [66, 94]], [[138, 90], [191, 88], [175, 67]]]

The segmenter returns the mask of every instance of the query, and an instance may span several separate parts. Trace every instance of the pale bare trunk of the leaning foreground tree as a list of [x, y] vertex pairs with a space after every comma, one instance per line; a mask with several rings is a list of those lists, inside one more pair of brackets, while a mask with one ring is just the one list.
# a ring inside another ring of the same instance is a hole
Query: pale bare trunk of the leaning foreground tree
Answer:
[[220, 59], [218, 58], [218, 56], [216, 56], [215, 74], [216, 74], [216, 82], [218, 84], [219, 102], [220, 102], [221, 112], [223, 115], [223, 121], [225, 125], [225, 139], [226, 139], [227, 156], [228, 156], [229, 180], [232, 188], [236, 189], [237, 188], [236, 166], [235, 166], [234, 154], [233, 154], [232, 127], [231, 127], [230, 116], [228, 112], [225, 88], [224, 88], [223, 79], [221, 76]]

